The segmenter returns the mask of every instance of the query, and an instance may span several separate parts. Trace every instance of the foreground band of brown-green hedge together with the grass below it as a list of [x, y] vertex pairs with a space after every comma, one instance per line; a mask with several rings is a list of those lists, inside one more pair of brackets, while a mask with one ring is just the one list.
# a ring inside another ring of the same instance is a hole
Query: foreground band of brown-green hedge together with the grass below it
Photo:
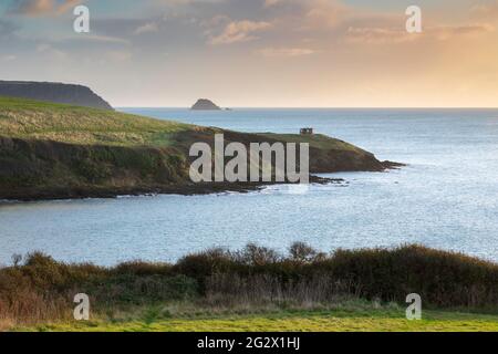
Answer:
[[[89, 294], [90, 322], [72, 320]], [[408, 323], [405, 299], [423, 299]], [[289, 253], [247, 246], [174, 264], [66, 264], [42, 253], [0, 270], [3, 330], [436, 331], [497, 330], [498, 264], [421, 246]]]

